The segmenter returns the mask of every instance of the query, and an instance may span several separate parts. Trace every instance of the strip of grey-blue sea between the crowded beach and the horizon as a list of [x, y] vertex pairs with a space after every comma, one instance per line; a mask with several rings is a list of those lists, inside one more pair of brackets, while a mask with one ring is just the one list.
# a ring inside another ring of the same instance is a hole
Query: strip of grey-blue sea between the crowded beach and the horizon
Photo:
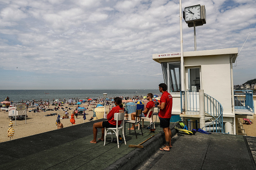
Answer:
[[103, 93], [107, 94], [107, 98], [146, 96], [148, 93], [159, 95], [159, 89], [117, 89], [117, 90], [0, 90], [0, 100], [4, 101], [9, 97], [9, 101], [20, 103], [29, 100], [66, 100], [68, 99], [87, 99], [87, 98], [103, 98]]

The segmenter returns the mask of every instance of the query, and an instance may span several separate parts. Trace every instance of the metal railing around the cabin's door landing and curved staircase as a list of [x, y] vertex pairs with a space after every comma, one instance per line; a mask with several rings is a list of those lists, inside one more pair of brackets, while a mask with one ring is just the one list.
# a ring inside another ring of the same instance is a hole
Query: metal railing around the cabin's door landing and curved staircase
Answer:
[[[201, 129], [210, 132], [223, 133], [223, 107], [215, 98], [204, 94], [204, 112], [208, 115], [209, 121]], [[199, 92], [181, 91], [181, 113], [200, 114], [199, 109]], [[192, 119], [192, 118], [191, 118]]]

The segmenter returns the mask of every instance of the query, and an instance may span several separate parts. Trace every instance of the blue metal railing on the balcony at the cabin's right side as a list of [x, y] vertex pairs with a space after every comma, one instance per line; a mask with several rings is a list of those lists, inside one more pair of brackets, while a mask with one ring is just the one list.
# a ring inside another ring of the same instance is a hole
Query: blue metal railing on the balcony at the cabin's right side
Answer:
[[249, 109], [254, 112], [253, 91], [251, 90], [234, 90], [235, 109]]

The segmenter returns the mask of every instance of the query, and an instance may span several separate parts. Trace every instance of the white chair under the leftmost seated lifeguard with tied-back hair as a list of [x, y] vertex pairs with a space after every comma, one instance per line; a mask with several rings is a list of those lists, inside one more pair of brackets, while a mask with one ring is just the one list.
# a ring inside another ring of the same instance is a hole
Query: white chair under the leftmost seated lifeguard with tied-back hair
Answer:
[[[114, 119], [116, 120], [116, 127], [109, 127], [109, 128], [106, 128], [105, 127], [105, 134], [104, 134], [104, 146], [105, 146], [105, 143], [106, 143], [106, 134], [107, 134], [107, 131], [111, 131], [111, 142], [113, 140], [113, 131], [115, 132], [116, 134], [116, 140], [117, 140], [117, 147], [119, 148], [119, 130], [122, 129], [122, 134], [123, 134], [123, 138], [125, 140], [125, 133], [124, 133], [124, 119], [125, 119], [125, 113], [122, 112], [122, 113], [115, 113], [114, 115]], [[122, 120], [122, 124], [118, 125], [118, 121], [121, 121]], [[125, 141], [125, 145], [126, 145], [126, 141]]]

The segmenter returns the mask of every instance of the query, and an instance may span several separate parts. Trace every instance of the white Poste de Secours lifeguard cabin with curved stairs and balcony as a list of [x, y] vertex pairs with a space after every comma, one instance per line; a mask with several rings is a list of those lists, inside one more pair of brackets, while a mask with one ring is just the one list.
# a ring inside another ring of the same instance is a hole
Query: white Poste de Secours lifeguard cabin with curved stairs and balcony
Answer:
[[184, 67], [180, 52], [153, 54], [173, 97], [172, 115], [180, 115], [191, 129], [244, 134], [239, 118], [253, 118], [253, 93], [234, 91], [237, 54], [237, 48], [184, 52]]

